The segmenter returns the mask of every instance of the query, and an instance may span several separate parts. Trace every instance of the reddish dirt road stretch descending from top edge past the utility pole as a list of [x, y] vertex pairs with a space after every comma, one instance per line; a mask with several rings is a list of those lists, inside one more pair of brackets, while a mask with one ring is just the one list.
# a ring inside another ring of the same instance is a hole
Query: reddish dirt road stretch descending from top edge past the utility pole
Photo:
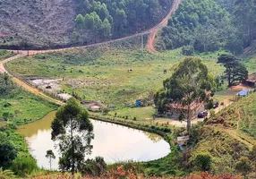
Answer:
[[175, 0], [170, 13], [168, 13], [166, 15], [165, 19], [163, 19], [163, 21], [161, 21], [158, 24], [158, 28], [152, 30], [149, 33], [149, 39], [148, 39], [146, 47], [147, 47], [147, 50], [149, 51], [150, 54], [157, 54], [158, 53], [157, 50], [154, 47], [154, 41], [155, 41], [155, 38], [156, 38], [156, 36], [158, 34], [158, 30], [160, 30], [163, 27], [166, 27], [168, 25], [168, 19], [171, 17], [172, 14], [175, 13], [175, 11], [177, 10], [179, 4], [181, 4], [181, 3], [182, 3], [182, 0]]

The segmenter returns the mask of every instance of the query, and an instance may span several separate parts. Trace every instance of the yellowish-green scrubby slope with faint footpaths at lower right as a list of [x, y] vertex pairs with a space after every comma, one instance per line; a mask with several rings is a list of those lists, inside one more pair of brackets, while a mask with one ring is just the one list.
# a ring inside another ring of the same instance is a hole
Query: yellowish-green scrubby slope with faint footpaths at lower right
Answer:
[[[214, 158], [213, 172], [235, 173], [235, 162], [241, 157], [251, 158], [256, 144], [256, 93], [226, 107], [209, 119], [199, 130], [198, 142], [192, 158], [209, 153]], [[252, 160], [253, 163], [253, 160]]]

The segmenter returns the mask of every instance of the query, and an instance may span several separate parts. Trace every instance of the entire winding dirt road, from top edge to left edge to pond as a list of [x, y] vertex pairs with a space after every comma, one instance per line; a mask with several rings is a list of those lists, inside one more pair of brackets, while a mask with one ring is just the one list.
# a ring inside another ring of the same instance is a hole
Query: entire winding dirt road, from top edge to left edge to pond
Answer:
[[[168, 21], [169, 17], [175, 12], [175, 10], [177, 9], [178, 5], [181, 4], [181, 2], [182, 2], [182, 0], [174, 0], [174, 3], [171, 6], [170, 12], [156, 26], [150, 28], [149, 30], [145, 30], [141, 33], [136, 33], [131, 36], [124, 37], [124, 38], [118, 38], [118, 39], [114, 39], [114, 40], [110, 40], [110, 41], [106, 41], [106, 42], [101, 42], [101, 43], [92, 44], [92, 45], [88, 45], [88, 46], [81, 46], [81, 47], [66, 47], [66, 48], [50, 49], [50, 50], [9, 50], [9, 51], [13, 51], [14, 53], [17, 53], [18, 55], [14, 55], [13, 57], [10, 57], [8, 59], [5, 59], [4, 61], [1, 61], [0, 62], [0, 73], [7, 72], [7, 70], [4, 68], [5, 63], [15, 60], [15, 59], [18, 59], [18, 58], [21, 58], [23, 56], [36, 55], [36, 54], [41, 54], [41, 53], [50, 53], [50, 52], [70, 50], [70, 49], [78, 49], [78, 48], [83, 48], [83, 47], [97, 47], [97, 46], [101, 46], [101, 45], [107, 45], [107, 44], [113, 43], [113, 42], [122, 41], [122, 40], [129, 39], [129, 38], [139, 37], [139, 36], [142, 36], [145, 34], [149, 34], [149, 40], [147, 43], [147, 48], [149, 50], [149, 53], [156, 52], [153, 47], [153, 42], [158, 33], [158, 30], [167, 25], [167, 21]], [[7, 73], [10, 76], [12, 76], [12, 74], [10, 72], [7, 72]], [[47, 96], [43, 91], [30, 86], [26, 82], [21, 81], [20, 79], [14, 77], [14, 76], [12, 76], [12, 80], [14, 82], [16, 82], [18, 85], [20, 85], [24, 90], [28, 90], [29, 92], [31, 92], [35, 95], [38, 95], [42, 98], [46, 98], [47, 100], [49, 100], [57, 105], [64, 105], [64, 102]]]

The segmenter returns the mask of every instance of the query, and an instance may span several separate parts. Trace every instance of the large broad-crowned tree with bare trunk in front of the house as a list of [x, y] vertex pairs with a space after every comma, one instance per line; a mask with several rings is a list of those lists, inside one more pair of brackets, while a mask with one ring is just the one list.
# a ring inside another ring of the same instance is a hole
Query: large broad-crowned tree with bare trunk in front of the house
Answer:
[[178, 64], [173, 75], [164, 81], [164, 88], [155, 94], [158, 112], [171, 109], [183, 115], [190, 132], [192, 117], [202, 107], [209, 91], [216, 90], [216, 82], [200, 58], [186, 57]]

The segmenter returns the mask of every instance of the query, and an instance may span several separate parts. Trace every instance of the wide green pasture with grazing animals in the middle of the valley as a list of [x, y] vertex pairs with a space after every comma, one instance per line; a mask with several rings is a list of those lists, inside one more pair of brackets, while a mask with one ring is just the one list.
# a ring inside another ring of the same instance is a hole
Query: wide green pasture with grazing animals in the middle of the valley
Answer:
[[[218, 55], [223, 53], [226, 52], [218, 51], [197, 56], [208, 66], [209, 72], [217, 76], [224, 71], [224, 67], [216, 63]], [[120, 115], [145, 119], [152, 117], [152, 107], [130, 107], [136, 99], [147, 95], [150, 90], [161, 88], [163, 80], [171, 75], [172, 68], [183, 57], [181, 49], [159, 55], [149, 55], [144, 51], [142, 56], [140, 49], [132, 47], [129, 43], [120, 43], [115, 46], [34, 55], [15, 60], [8, 66], [23, 77], [64, 77], [61, 82], [63, 90], [69, 93], [74, 91], [81, 98], [100, 100], [103, 104], [115, 106], [116, 113]], [[254, 65], [246, 65], [250, 72], [256, 70]], [[132, 72], [127, 72], [128, 69], [132, 69]], [[167, 74], [163, 72], [165, 69], [168, 70]], [[216, 98], [227, 98], [223, 94], [225, 93], [217, 93]], [[230, 93], [228, 98], [234, 94], [235, 92]]]

